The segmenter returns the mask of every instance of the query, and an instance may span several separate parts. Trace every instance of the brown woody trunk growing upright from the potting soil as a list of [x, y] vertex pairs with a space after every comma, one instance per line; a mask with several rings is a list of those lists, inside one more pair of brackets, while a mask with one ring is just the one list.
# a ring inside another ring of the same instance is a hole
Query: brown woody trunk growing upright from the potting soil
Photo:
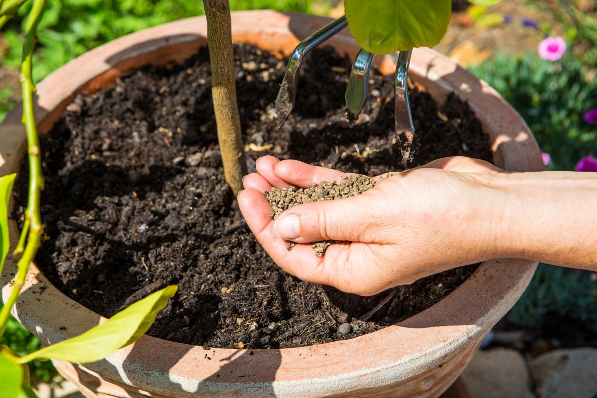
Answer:
[[224, 176], [234, 195], [242, 190], [247, 161], [242, 145], [241, 119], [236, 103], [236, 76], [232, 48], [230, 4], [226, 0], [204, 0], [211, 59], [211, 95], [218, 127], [218, 142]]

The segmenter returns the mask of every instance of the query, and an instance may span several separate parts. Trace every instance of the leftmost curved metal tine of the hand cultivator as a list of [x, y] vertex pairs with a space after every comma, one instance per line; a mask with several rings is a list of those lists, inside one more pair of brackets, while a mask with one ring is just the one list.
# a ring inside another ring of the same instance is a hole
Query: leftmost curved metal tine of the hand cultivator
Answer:
[[340, 30], [346, 27], [348, 22], [346, 17], [342, 16], [337, 20], [327, 24], [303, 41], [294, 49], [288, 60], [288, 67], [282, 81], [282, 87], [276, 98], [276, 113], [278, 114], [278, 124], [282, 124], [290, 115], [294, 107], [294, 98], [296, 97], [296, 86], [298, 81], [298, 71], [304, 56], [322, 42], [336, 35]]

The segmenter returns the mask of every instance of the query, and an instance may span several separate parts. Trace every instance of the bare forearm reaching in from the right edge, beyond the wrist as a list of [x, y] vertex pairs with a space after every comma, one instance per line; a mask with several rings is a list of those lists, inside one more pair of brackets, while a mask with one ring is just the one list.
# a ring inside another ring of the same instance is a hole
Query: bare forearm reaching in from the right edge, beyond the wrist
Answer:
[[500, 173], [488, 186], [498, 257], [597, 270], [597, 173]]

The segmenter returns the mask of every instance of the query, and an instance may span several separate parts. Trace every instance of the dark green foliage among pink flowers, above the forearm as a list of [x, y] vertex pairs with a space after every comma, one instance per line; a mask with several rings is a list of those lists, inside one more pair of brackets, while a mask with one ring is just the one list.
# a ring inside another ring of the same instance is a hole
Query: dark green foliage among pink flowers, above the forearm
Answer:
[[573, 170], [581, 157], [597, 155], [597, 129], [583, 120], [586, 110], [597, 107], [597, 78], [580, 61], [496, 53], [470, 70], [521, 114], [541, 150], [551, 155], [550, 169]]

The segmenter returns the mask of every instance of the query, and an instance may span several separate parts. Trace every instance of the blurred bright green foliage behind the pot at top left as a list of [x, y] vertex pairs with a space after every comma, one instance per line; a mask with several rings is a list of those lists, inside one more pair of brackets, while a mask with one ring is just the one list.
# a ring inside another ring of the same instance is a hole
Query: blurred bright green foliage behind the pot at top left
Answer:
[[[30, 3], [21, 7], [19, 16], [29, 12]], [[232, 0], [230, 6], [233, 10], [273, 8], [310, 12], [315, 3], [314, 0]], [[325, 5], [319, 8], [326, 9]], [[39, 24], [33, 79], [38, 82], [85, 51], [128, 33], [202, 14], [203, 5], [198, 0], [49, 0]], [[5, 66], [19, 67], [25, 23], [26, 19], [16, 18], [5, 29], [4, 39], [10, 48], [3, 60]]]

